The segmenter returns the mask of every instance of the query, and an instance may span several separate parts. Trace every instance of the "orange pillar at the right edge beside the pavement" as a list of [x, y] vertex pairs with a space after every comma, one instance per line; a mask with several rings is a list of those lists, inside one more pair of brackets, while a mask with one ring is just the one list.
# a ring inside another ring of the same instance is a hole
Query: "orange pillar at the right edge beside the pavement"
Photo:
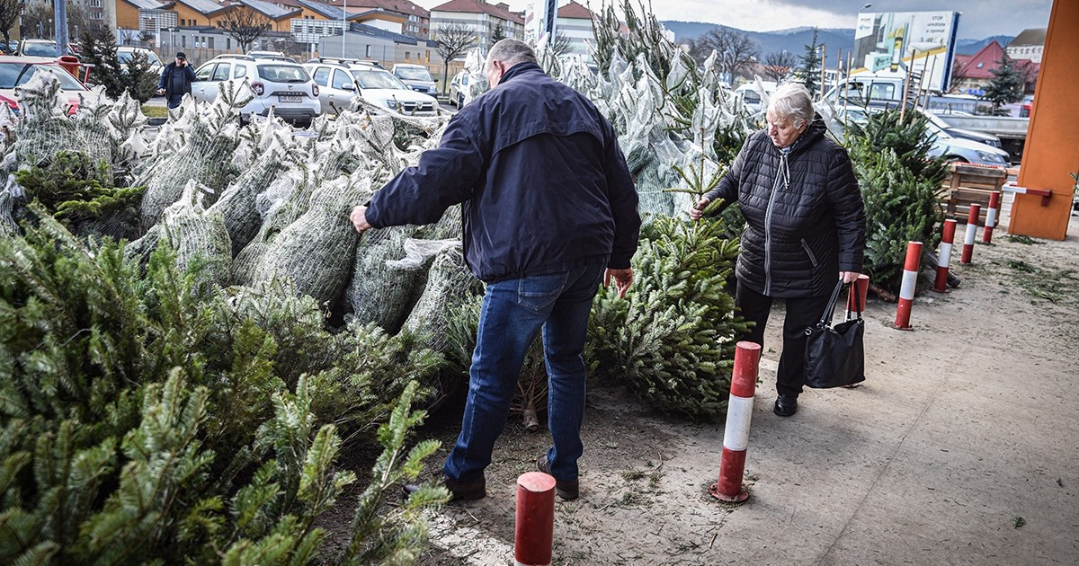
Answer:
[[1049, 16], [1046, 50], [1038, 72], [1038, 87], [1026, 133], [1026, 150], [1017, 184], [1053, 192], [1048, 206], [1042, 197], [1016, 194], [1012, 204], [1009, 234], [1064, 239], [1071, 213], [1075, 181], [1069, 171], [1079, 171], [1079, 2], [1056, 0]]

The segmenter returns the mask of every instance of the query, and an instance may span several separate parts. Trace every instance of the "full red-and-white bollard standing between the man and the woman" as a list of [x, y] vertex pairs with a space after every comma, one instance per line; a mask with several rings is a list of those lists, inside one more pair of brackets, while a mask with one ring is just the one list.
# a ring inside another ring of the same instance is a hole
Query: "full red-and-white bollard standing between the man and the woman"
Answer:
[[712, 497], [728, 503], [740, 503], [749, 498], [749, 491], [741, 480], [746, 472], [749, 423], [753, 418], [753, 395], [760, 363], [760, 344], [741, 341], [735, 346], [735, 370], [730, 376], [727, 426], [723, 430], [720, 481], [708, 488]]

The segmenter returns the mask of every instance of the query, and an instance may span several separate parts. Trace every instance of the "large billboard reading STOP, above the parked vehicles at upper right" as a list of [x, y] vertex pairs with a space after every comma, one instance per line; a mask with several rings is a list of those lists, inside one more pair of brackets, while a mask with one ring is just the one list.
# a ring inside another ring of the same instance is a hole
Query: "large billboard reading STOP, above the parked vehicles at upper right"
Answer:
[[906, 75], [913, 67], [923, 87], [947, 92], [958, 27], [958, 12], [859, 14], [851, 74]]

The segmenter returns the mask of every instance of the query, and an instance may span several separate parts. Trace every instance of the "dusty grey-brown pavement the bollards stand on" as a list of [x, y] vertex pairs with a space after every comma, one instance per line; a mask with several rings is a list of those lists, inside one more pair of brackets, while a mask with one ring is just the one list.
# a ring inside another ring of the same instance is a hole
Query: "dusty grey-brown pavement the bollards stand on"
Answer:
[[[737, 508], [707, 495], [722, 424], [689, 425], [617, 384], [593, 387], [582, 495], [556, 503], [554, 563], [1076, 564], [1079, 274], [1067, 271], [1079, 267], [1079, 219], [1069, 233], [1024, 245], [998, 231], [972, 265], [954, 262], [959, 289], [916, 299], [913, 332], [888, 328], [896, 306], [871, 301], [865, 385], [809, 390], [788, 419], [770, 411], [771, 325], [752, 496]], [[442, 411], [424, 433], [449, 446], [459, 418]], [[488, 497], [436, 515], [423, 564], [513, 564], [515, 480], [548, 441], [511, 420]]]

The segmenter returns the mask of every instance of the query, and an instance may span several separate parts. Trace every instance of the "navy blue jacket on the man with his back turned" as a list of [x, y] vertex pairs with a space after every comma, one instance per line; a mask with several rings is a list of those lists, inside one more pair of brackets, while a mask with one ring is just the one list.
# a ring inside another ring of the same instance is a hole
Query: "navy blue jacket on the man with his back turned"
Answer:
[[614, 129], [532, 63], [461, 109], [439, 147], [378, 191], [374, 227], [437, 222], [462, 203], [465, 259], [487, 282], [627, 268], [641, 219]]

